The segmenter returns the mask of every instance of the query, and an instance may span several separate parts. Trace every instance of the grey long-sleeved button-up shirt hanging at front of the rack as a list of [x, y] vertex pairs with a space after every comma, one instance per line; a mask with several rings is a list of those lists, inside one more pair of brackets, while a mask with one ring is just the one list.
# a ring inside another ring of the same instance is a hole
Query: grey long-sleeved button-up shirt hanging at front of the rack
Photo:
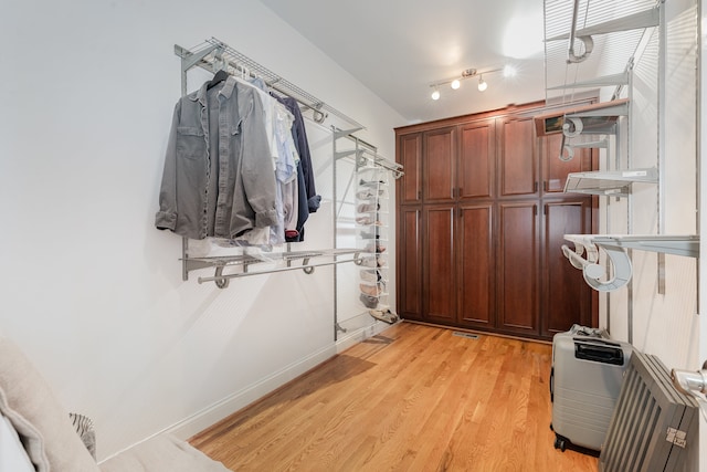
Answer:
[[191, 239], [235, 239], [277, 222], [263, 105], [232, 76], [208, 85], [175, 105], [155, 225]]

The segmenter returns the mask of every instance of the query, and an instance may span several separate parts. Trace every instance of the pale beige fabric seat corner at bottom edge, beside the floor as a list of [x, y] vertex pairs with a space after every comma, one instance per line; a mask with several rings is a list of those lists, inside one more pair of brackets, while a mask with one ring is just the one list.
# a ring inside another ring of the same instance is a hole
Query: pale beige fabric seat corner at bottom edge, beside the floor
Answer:
[[101, 463], [102, 472], [229, 472], [188, 442], [156, 436]]

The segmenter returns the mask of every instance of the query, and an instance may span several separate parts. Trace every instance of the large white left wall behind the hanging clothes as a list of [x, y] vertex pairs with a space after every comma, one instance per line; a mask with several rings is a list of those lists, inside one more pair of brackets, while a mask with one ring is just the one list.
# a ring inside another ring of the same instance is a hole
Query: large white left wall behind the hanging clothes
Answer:
[[[394, 156], [402, 118], [260, 2], [10, 0], [0, 15], [0, 331], [94, 419], [99, 458], [176, 426], [191, 434], [335, 352], [334, 269], [183, 282], [181, 239], [154, 228], [173, 45], [211, 36]], [[330, 141], [315, 141], [326, 160]], [[313, 243], [333, 241], [330, 218], [325, 195]]]

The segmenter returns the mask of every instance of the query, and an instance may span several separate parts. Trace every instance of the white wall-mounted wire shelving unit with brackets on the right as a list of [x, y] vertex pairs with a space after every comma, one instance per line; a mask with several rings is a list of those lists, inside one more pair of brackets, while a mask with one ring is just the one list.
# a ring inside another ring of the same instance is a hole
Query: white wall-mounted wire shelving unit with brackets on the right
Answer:
[[[659, 254], [677, 254], [689, 258], [699, 256], [699, 237], [693, 234], [661, 234], [663, 232], [663, 190], [662, 180], [665, 166], [663, 130], [658, 129], [658, 159], [654, 167], [631, 167], [631, 95], [633, 91], [634, 54], [645, 48], [647, 39], [655, 31], [659, 34], [661, 48], [658, 59], [658, 90], [659, 96], [665, 96], [665, 51], [664, 51], [664, 4], [663, 2], [646, 1], [645, 4], [632, 3], [634, 10], [621, 11], [622, 18], [614, 18], [615, 2], [604, 0], [570, 2], [546, 1], [546, 70], [548, 77], [561, 74], [553, 73], [560, 67], [564, 70], [564, 77], [579, 77], [572, 83], [546, 83], [548, 97], [559, 92], [571, 95], [577, 88], [615, 86], [612, 99], [594, 104], [584, 109], [568, 111], [562, 115], [541, 116], [536, 118], [538, 133], [562, 133], [561, 159], [572, 156], [573, 147], [595, 147], [606, 150], [606, 165], [598, 171], [570, 174], [564, 191], [590, 193], [604, 197], [631, 198], [634, 186], [652, 185], [658, 190], [658, 234], [566, 234], [568, 245], [562, 248], [563, 254], [577, 269], [583, 271], [584, 280], [594, 290], [610, 292], [620, 289], [631, 280], [631, 251], [652, 251]], [[637, 9], [637, 10], [635, 10]], [[583, 23], [578, 28], [578, 14]], [[564, 32], [559, 32], [564, 30]], [[612, 53], [615, 49], [614, 64], [623, 70], [609, 71], [602, 77], [591, 77], [582, 74], [588, 69], [594, 70], [592, 51], [597, 43], [602, 45], [612, 39]], [[562, 49], [562, 45], [567, 48]], [[584, 64], [582, 64], [584, 63]], [[584, 70], [582, 66], [587, 65]], [[571, 71], [570, 71], [571, 70]], [[572, 73], [570, 73], [572, 72]], [[624, 87], [627, 87], [627, 98], [620, 98]], [[664, 104], [658, 103], [658, 122]], [[619, 133], [622, 119], [626, 120], [629, 133], [627, 156], [624, 166], [619, 166], [619, 146], [624, 136]], [[604, 135], [604, 138], [591, 143], [573, 144], [571, 139], [582, 135]], [[613, 149], [609, 146], [609, 137], [613, 139]], [[611, 154], [614, 154], [613, 159]], [[629, 213], [629, 228], [631, 216]], [[606, 254], [608, 268], [600, 265], [600, 251]], [[663, 256], [658, 258], [658, 261]], [[659, 262], [661, 263], [661, 262]]]

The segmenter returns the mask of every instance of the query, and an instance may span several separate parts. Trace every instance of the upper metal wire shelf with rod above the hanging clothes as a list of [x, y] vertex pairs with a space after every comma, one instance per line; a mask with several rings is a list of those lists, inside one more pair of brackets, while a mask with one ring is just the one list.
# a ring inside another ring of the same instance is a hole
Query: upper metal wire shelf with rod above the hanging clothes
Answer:
[[[267, 86], [275, 92], [295, 98], [299, 104], [314, 112], [315, 122], [317, 123], [323, 123], [327, 118], [327, 113], [329, 113], [360, 129], [365, 129], [365, 126], [354, 118], [327, 105], [310, 93], [299, 88], [215, 38], [208, 39], [205, 43], [192, 50], [175, 44], [175, 54], [182, 59], [182, 74], [186, 74], [188, 70], [194, 66], [213, 72], [218, 70], [218, 62], [222, 61], [234, 71], [240, 71], [253, 78], [263, 78]], [[223, 69], [226, 69], [228, 72], [228, 67]], [[182, 83], [186, 83], [186, 81], [182, 81]], [[186, 95], [186, 91], [182, 90], [182, 93]]]

